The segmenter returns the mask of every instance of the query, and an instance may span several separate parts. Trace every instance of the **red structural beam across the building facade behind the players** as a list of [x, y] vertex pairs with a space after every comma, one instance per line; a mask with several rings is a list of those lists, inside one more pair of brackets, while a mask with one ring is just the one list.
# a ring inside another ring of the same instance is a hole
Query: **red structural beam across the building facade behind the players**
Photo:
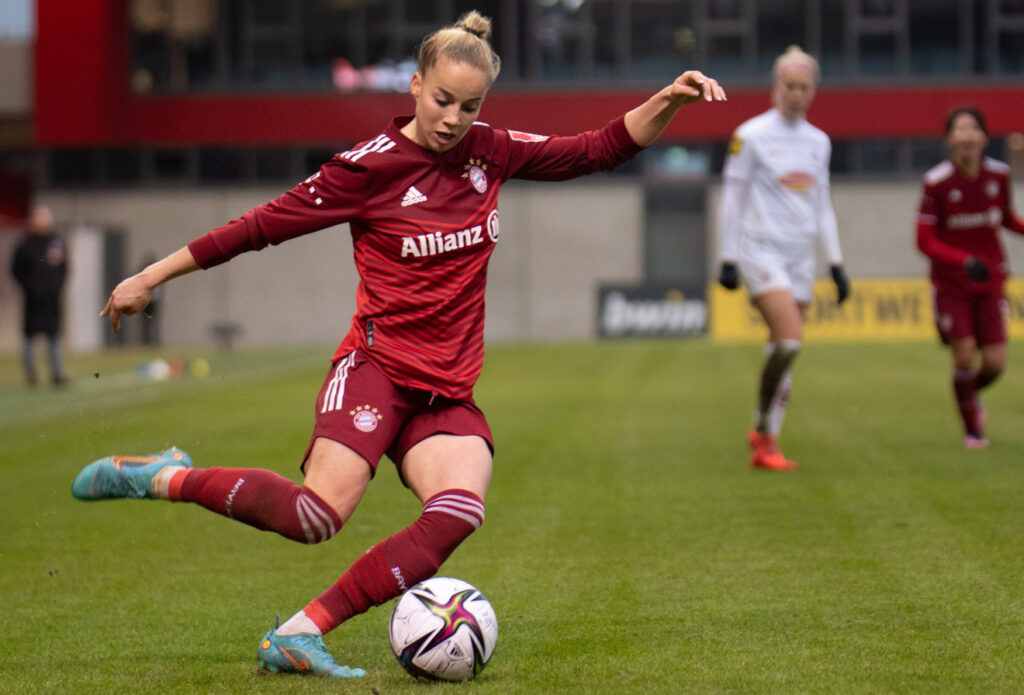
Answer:
[[[152, 96], [131, 94], [127, 3], [38, 0], [35, 141], [43, 146], [345, 143], [366, 139], [399, 114], [407, 94], [325, 92]], [[724, 104], [686, 106], [668, 140], [724, 140], [770, 106], [767, 89], [729, 89]], [[492, 89], [481, 119], [540, 133], [602, 125], [649, 91]], [[972, 103], [994, 135], [1024, 130], [1021, 84], [944, 87], [823, 86], [810, 120], [833, 138], [938, 137], [948, 110]]]

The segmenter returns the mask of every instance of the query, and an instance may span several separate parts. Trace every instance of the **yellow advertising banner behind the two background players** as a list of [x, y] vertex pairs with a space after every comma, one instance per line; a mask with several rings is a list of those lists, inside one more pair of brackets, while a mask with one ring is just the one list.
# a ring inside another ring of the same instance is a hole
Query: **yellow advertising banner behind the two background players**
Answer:
[[[804, 340], [886, 341], [937, 340], [932, 310], [932, 285], [927, 278], [851, 280], [853, 293], [836, 304], [836, 286], [819, 279], [807, 313]], [[1006, 285], [1009, 333], [1024, 337], [1024, 278]], [[717, 283], [709, 286], [709, 333], [721, 342], [761, 342], [766, 329], [743, 288], [735, 292]]]

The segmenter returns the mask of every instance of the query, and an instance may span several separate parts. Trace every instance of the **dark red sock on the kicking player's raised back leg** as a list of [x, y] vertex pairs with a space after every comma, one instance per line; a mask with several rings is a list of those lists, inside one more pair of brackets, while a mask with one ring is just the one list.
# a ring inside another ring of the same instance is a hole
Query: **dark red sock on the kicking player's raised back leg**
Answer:
[[194, 502], [299, 542], [323, 542], [341, 528], [341, 517], [311, 489], [258, 468], [185, 469], [171, 478], [169, 492], [173, 502]]

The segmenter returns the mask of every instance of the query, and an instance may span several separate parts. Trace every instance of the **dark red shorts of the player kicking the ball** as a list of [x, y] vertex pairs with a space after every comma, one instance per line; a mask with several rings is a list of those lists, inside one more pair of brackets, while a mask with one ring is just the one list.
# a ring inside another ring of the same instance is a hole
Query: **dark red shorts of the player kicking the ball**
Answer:
[[309, 446], [325, 437], [367, 460], [374, 472], [381, 455], [396, 465], [414, 445], [434, 434], [477, 435], [495, 450], [483, 412], [472, 400], [452, 400], [397, 386], [360, 350], [331, 365], [319, 395]]

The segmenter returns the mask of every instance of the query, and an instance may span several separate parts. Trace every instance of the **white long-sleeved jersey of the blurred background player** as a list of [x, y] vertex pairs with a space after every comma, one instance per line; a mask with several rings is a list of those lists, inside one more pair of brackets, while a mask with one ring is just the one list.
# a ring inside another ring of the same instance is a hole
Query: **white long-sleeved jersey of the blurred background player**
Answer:
[[777, 110], [756, 116], [733, 134], [723, 170], [723, 261], [735, 261], [743, 240], [777, 249], [807, 249], [820, 237], [830, 264], [843, 262], [828, 191], [831, 142], [806, 120]]

